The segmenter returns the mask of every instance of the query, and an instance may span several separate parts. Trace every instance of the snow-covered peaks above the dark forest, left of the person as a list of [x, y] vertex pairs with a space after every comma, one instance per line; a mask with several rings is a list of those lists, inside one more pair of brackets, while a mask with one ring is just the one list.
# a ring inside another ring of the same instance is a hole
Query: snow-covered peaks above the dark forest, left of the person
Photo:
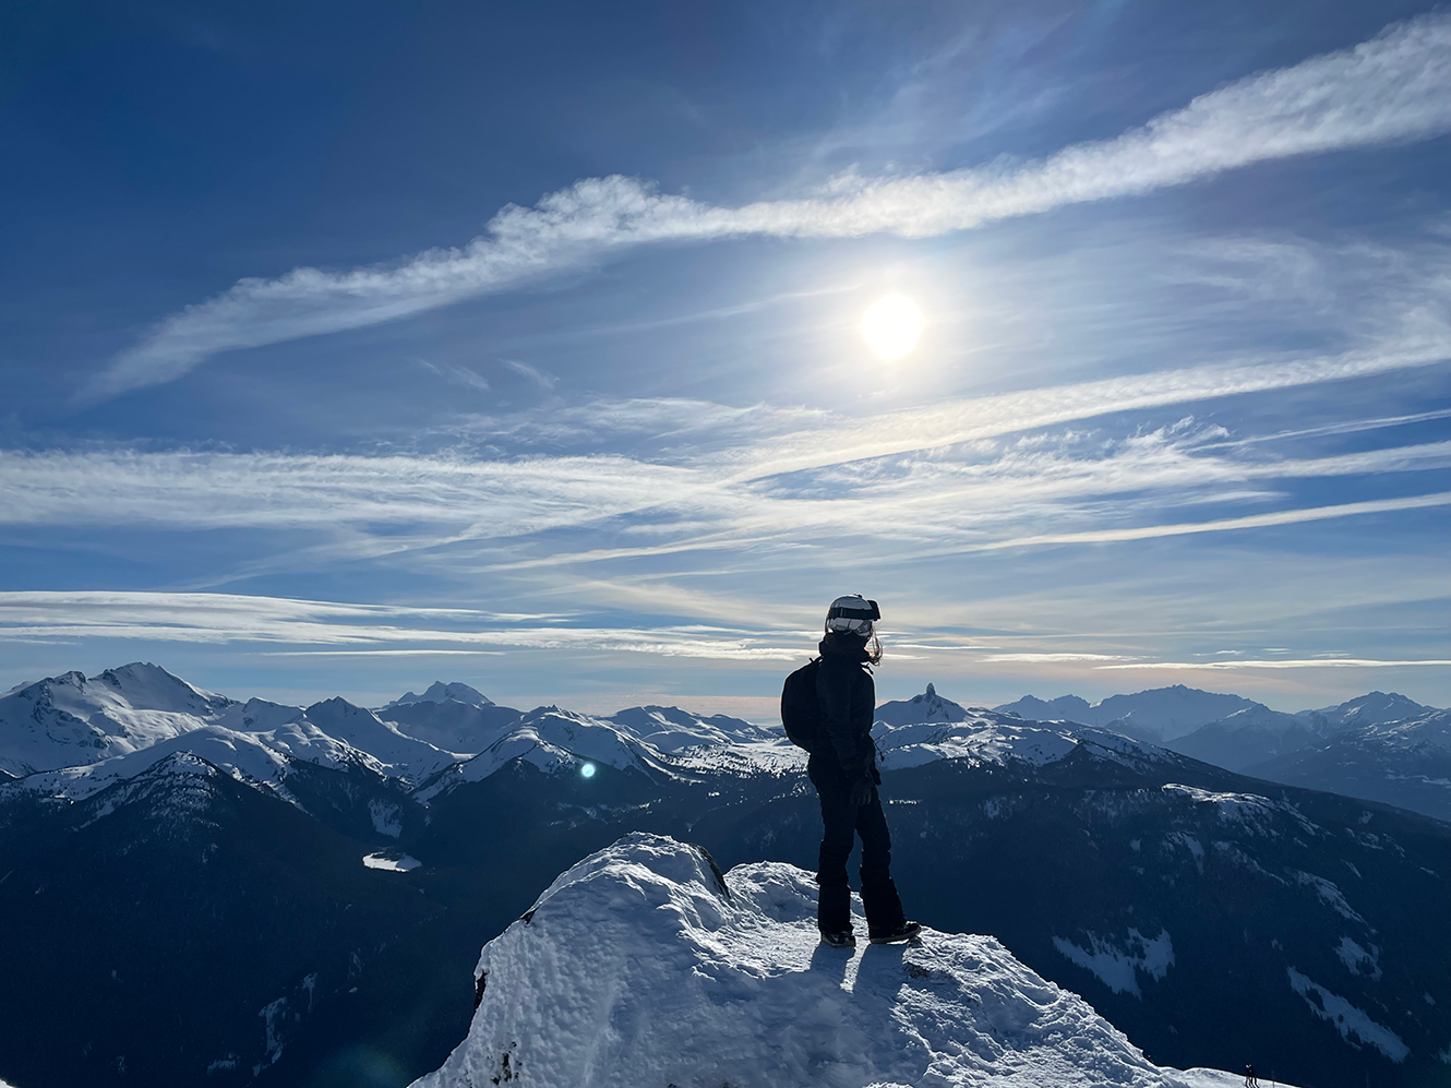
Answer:
[[[284, 798], [289, 767], [303, 760], [334, 769], [364, 767], [415, 786], [429, 782], [419, 794], [427, 801], [440, 785], [488, 778], [514, 759], [544, 770], [592, 762], [669, 773], [669, 756], [691, 762], [692, 753], [710, 751], [717, 759], [705, 762], [720, 763], [718, 756], [739, 749], [734, 763], [730, 757], [724, 762], [750, 770], [770, 763], [784, 746], [779, 730], [675, 706], [634, 706], [612, 718], [557, 706], [521, 715], [459, 683], [434, 683], [421, 696], [409, 692], [382, 711], [389, 708], [402, 724], [341, 698], [308, 708], [266, 699], [242, 704], [154, 664], [110, 669], [89, 679], [74, 672], [19, 685], [0, 696], [0, 772], [13, 788], [77, 801], [190, 751]], [[424, 718], [418, 718], [421, 709], [427, 711]], [[414, 728], [422, 730], [427, 720], [431, 735], [469, 741], [469, 749], [412, 735], [409, 714], [418, 720]]]

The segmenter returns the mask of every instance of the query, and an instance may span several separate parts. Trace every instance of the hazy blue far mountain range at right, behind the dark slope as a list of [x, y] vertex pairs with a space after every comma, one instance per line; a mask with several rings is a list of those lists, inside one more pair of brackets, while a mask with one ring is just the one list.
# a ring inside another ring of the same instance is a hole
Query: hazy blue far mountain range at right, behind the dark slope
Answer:
[[995, 709], [1101, 725], [1255, 778], [1451, 820], [1447, 712], [1394, 692], [1297, 714], [1181, 685], [1096, 705], [1077, 695], [1027, 695]]

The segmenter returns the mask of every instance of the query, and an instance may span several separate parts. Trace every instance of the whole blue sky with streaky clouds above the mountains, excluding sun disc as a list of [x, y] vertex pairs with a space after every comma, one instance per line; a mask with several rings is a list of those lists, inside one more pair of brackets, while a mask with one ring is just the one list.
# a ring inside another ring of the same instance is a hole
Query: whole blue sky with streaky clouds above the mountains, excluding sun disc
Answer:
[[16, 28], [0, 685], [769, 717], [862, 592], [885, 696], [1451, 702], [1444, 10]]

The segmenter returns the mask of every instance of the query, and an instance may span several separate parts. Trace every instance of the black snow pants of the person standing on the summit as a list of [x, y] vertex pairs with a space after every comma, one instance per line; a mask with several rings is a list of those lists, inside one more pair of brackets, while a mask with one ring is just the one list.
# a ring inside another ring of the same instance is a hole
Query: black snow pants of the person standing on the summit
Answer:
[[817, 860], [817, 926], [824, 933], [852, 927], [852, 891], [846, 879], [846, 859], [856, 836], [862, 837], [862, 905], [866, 908], [869, 934], [879, 936], [901, 928], [905, 915], [892, 882], [892, 836], [887, 830], [882, 798], [872, 786], [872, 799], [852, 804], [852, 783], [843, 780], [834, 762], [813, 759], [807, 765], [811, 785], [821, 799], [821, 853]]

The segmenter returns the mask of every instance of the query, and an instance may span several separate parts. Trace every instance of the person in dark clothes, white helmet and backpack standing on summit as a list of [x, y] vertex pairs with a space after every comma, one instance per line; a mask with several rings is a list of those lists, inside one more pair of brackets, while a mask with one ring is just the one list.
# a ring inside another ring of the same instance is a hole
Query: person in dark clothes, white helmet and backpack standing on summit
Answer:
[[921, 931], [903, 912], [891, 876], [892, 837], [876, 789], [882, 776], [872, 743], [876, 686], [871, 666], [882, 660], [875, 628], [879, 618], [875, 601], [858, 595], [833, 601], [818, 647], [821, 657], [791, 675], [781, 699], [786, 733], [811, 753], [807, 775], [821, 801], [817, 927], [823, 943], [833, 947], [856, 946], [846, 859], [858, 836], [869, 940], [889, 944]]

